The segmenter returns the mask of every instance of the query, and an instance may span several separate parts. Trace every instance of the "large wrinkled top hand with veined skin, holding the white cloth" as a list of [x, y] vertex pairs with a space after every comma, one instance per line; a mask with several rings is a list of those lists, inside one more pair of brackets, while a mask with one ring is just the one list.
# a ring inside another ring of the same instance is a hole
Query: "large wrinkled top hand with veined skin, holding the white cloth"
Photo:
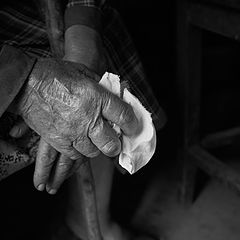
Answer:
[[[51, 70], [50, 70], [51, 69]], [[84, 65], [39, 59], [17, 102], [26, 123], [56, 150], [78, 159], [119, 154], [121, 142], [108, 121], [126, 135], [137, 131], [130, 105], [97, 82]]]

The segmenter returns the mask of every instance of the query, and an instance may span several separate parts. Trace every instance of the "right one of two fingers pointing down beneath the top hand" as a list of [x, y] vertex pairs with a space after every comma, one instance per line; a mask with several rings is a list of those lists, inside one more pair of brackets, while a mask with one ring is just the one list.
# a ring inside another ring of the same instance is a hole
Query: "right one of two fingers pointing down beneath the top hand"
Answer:
[[77, 170], [82, 159], [83, 158], [71, 160], [67, 156], [61, 154], [52, 172], [51, 180], [47, 183], [46, 189], [49, 194], [55, 194], [58, 191], [62, 183]]

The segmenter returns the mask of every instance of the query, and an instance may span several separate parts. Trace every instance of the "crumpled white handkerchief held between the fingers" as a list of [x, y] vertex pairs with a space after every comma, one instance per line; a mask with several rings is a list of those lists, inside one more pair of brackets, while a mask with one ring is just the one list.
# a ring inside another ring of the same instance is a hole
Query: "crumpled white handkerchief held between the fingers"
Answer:
[[[99, 84], [120, 96], [120, 79], [117, 75], [106, 72]], [[152, 158], [156, 149], [156, 131], [151, 114], [126, 88], [123, 92], [123, 100], [132, 106], [141, 124], [141, 131], [138, 135], [133, 137], [122, 135], [122, 151], [119, 155], [119, 164], [130, 174], [133, 174]], [[115, 130], [117, 131], [117, 128]]]

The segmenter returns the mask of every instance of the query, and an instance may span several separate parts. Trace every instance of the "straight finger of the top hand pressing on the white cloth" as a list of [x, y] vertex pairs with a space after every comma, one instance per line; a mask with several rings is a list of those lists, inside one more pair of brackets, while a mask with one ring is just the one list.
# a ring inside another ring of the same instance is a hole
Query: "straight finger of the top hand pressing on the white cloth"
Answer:
[[126, 135], [137, 132], [138, 120], [131, 105], [111, 93], [105, 94], [103, 101], [102, 114], [107, 120], [117, 124]]

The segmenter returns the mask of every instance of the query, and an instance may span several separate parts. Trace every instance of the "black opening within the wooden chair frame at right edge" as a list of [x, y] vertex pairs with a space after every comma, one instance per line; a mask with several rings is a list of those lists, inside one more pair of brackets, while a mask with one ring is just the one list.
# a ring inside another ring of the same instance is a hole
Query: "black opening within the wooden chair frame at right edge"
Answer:
[[203, 31], [201, 133], [239, 126], [239, 41]]

